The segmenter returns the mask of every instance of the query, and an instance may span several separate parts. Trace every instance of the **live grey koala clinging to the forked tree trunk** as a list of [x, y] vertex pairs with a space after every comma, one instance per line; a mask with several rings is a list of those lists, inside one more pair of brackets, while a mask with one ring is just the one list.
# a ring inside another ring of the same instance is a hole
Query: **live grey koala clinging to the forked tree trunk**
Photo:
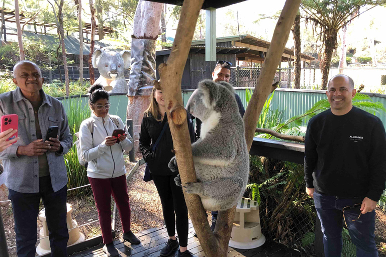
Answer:
[[[226, 210], [243, 196], [249, 175], [249, 154], [232, 85], [203, 80], [186, 109], [203, 121], [201, 138], [191, 145], [197, 183], [183, 185], [197, 194], [206, 210]], [[168, 167], [177, 171], [173, 157]], [[175, 178], [177, 185], [181, 180]]]

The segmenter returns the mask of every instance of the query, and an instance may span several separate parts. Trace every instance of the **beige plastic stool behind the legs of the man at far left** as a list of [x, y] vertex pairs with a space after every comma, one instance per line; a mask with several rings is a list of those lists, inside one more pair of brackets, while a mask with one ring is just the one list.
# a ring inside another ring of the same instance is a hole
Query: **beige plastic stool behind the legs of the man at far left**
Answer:
[[[46, 212], [45, 211], [46, 211], [45, 209], [42, 209], [39, 212], [39, 219], [43, 222], [43, 227], [40, 229], [40, 232], [39, 232], [39, 238], [43, 238], [43, 237], [48, 236], [48, 227], [47, 227], [47, 220], [46, 220]], [[67, 203], [66, 220], [67, 220], [67, 228], [69, 230], [68, 231], [69, 238], [68, 238], [67, 246], [84, 241], [84, 235], [79, 232], [78, 223], [74, 219], [71, 218], [71, 213], [72, 213], [72, 205]], [[38, 246], [36, 247], [36, 252], [39, 255], [42, 255], [42, 254], [48, 253], [50, 251], [51, 251], [51, 247], [50, 247], [49, 238], [47, 237], [47, 238], [40, 239], [40, 242], [39, 242]]]

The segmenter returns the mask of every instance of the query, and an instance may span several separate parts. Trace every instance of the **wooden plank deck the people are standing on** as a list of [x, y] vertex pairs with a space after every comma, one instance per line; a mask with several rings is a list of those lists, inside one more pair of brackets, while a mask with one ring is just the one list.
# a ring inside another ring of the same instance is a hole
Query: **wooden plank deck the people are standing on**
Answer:
[[[187, 241], [187, 249], [194, 254], [196, 257], [204, 257], [205, 252], [203, 251], [200, 242], [197, 237], [192, 233], [193, 225], [189, 221], [189, 234]], [[158, 257], [159, 252], [168, 240], [168, 235], [165, 227], [151, 228], [136, 234], [140, 239], [140, 244], [130, 244], [129, 242], [114, 241], [115, 247], [118, 249], [120, 256], [151, 256]], [[122, 240], [122, 239], [121, 239]], [[82, 252], [74, 253], [71, 257], [91, 257], [91, 256], [107, 256], [102, 250], [103, 244], [95, 246], [91, 249], [84, 250]], [[175, 250], [169, 256], [177, 256], [177, 250]], [[290, 257], [290, 256], [301, 256], [300, 252], [287, 248], [286, 246], [267, 240], [262, 246], [254, 249], [234, 249], [228, 247], [228, 257], [235, 256], [248, 256], [248, 257]]]

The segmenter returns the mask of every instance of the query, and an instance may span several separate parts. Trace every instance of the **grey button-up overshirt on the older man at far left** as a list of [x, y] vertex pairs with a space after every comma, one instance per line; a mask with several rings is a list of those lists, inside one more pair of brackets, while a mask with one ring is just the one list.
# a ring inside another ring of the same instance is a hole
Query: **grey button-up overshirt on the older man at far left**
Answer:
[[[39, 108], [38, 117], [43, 139], [49, 126], [58, 126], [59, 140], [63, 147], [61, 153], [46, 152], [51, 183], [54, 192], [67, 184], [67, 171], [63, 155], [72, 146], [72, 135], [68, 127], [68, 120], [63, 104], [56, 98], [46, 95], [40, 90], [43, 103]], [[34, 109], [30, 101], [17, 87], [14, 91], [0, 94], [0, 116], [17, 114], [19, 116], [18, 136], [15, 144], [0, 153], [3, 160], [4, 173], [0, 176], [0, 184], [20, 193], [39, 192], [39, 157], [17, 156], [19, 146], [26, 146], [37, 140]]]

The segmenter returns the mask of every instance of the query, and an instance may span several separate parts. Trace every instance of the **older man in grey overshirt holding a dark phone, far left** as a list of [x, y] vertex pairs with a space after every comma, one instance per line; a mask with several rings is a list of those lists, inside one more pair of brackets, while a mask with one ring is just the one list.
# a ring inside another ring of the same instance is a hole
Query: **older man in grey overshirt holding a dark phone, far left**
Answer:
[[[19, 257], [34, 257], [40, 199], [49, 230], [51, 256], [67, 256], [67, 169], [63, 155], [72, 147], [63, 104], [44, 93], [40, 68], [31, 61], [14, 66], [17, 88], [0, 95], [0, 116], [18, 114], [19, 140], [0, 153], [8, 198], [15, 219]], [[58, 126], [58, 136], [46, 139], [49, 126]], [[3, 181], [0, 181], [2, 184]]]

